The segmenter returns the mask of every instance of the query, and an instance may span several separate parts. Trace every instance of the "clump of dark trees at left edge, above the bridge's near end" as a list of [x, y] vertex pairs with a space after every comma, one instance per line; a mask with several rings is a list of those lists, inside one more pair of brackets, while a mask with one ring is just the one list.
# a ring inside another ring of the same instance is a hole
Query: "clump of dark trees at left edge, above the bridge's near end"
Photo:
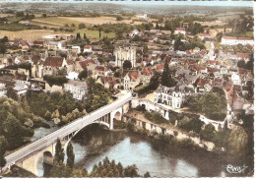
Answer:
[[17, 149], [27, 143], [26, 137], [33, 134], [32, 126], [38, 119], [30, 112], [26, 98], [19, 103], [7, 97], [0, 98], [0, 136], [3, 136], [7, 145], [3, 148]]

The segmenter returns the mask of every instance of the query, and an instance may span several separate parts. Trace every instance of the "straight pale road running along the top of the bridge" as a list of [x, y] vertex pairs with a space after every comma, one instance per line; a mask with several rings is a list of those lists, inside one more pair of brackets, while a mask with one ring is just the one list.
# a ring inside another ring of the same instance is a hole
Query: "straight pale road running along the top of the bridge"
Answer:
[[84, 127], [92, 124], [98, 118], [112, 112], [113, 110], [119, 108], [120, 106], [124, 105], [126, 102], [130, 101], [132, 98], [131, 92], [127, 92], [121, 98], [113, 101], [111, 104], [105, 105], [96, 111], [89, 113], [88, 115], [78, 118], [76, 121], [67, 124], [66, 126], [62, 127], [61, 129], [45, 136], [44, 138], [33, 142], [31, 145], [19, 149], [18, 151], [8, 155], [5, 157], [6, 165], [3, 168], [3, 171], [7, 169], [8, 166], [12, 166], [18, 160], [30, 155], [32, 152], [45, 149], [46, 147], [53, 144], [57, 139], [62, 139], [69, 134], [74, 133], [77, 130], [83, 129]]

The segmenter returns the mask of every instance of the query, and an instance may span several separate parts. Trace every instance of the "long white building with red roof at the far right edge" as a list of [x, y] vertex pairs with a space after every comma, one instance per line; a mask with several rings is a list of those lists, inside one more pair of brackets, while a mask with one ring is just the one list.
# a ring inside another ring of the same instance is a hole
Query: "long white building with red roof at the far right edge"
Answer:
[[254, 41], [252, 38], [247, 37], [233, 37], [233, 36], [223, 36], [222, 37], [222, 45], [253, 45]]

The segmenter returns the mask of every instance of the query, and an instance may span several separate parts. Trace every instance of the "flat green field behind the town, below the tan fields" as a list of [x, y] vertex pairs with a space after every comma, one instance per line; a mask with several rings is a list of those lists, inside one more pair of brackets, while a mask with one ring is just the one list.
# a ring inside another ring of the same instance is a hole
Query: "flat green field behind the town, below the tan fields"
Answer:
[[[74, 33], [77, 34], [77, 32], [80, 32], [81, 37], [84, 37], [84, 33], [86, 33], [88, 38], [99, 38], [98, 30], [75, 30]], [[107, 38], [114, 38], [115, 33], [114, 32], [104, 32], [101, 31], [101, 38], [104, 36], [107, 36]]]

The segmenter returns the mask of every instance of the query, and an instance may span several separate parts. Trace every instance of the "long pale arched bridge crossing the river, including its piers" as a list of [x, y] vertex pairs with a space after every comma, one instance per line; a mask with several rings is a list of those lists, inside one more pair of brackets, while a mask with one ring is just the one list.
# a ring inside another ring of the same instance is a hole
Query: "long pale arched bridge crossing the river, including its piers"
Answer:
[[17, 165], [38, 176], [37, 165], [39, 159], [43, 157], [43, 162], [52, 164], [58, 139], [61, 140], [62, 146], [66, 149], [71, 139], [86, 126], [98, 123], [112, 130], [114, 118], [120, 120], [120, 116], [129, 110], [131, 99], [131, 92], [122, 91], [121, 96], [112, 103], [78, 118], [61, 129], [6, 156], [6, 166], [3, 167], [3, 171], [10, 169], [12, 165]]

